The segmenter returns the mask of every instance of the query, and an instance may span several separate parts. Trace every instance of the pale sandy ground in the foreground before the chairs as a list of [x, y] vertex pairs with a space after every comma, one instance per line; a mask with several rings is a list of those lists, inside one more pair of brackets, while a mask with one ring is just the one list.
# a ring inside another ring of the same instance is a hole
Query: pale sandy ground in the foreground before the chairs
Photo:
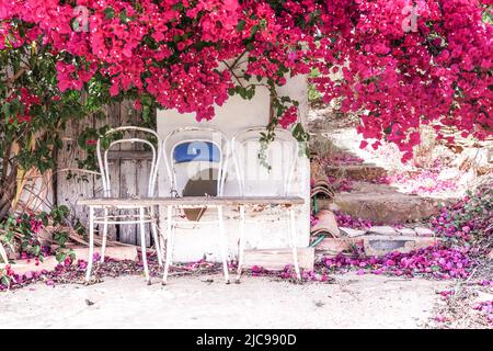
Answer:
[[1, 293], [0, 320], [10, 328], [422, 328], [445, 286], [355, 274], [303, 285], [265, 278], [226, 285], [220, 276], [175, 278], [168, 286], [139, 276], [39, 283]]

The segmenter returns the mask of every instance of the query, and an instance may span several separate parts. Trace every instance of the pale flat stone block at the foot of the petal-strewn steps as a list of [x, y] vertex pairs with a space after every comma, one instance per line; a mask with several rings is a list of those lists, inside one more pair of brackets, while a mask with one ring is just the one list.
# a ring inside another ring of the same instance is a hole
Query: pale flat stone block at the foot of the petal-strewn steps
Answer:
[[435, 238], [404, 236], [365, 236], [363, 238], [363, 247], [367, 256], [385, 256], [393, 251], [405, 253], [412, 250], [427, 248], [435, 244]]

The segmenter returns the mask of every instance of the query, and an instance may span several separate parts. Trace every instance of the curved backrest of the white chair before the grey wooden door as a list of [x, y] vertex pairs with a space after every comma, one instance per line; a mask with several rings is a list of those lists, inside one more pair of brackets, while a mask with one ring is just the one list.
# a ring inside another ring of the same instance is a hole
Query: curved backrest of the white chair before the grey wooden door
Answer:
[[[147, 138], [140, 138], [130, 136], [129, 134], [141, 134], [147, 135]], [[117, 136], [112, 138], [112, 136]], [[114, 129], [110, 129], [106, 132], [105, 138], [110, 138], [112, 141], [110, 143], [108, 147], [104, 150], [102, 150], [102, 138], [98, 140], [96, 145], [96, 154], [98, 154], [98, 162], [100, 165], [101, 170], [101, 177], [103, 181], [103, 191], [104, 191], [104, 197], [112, 197], [117, 196], [118, 194], [112, 194], [112, 180], [110, 177], [110, 163], [108, 163], [108, 152], [115, 145], [122, 145], [122, 144], [142, 144], [147, 145], [152, 154], [150, 170], [149, 170], [149, 182], [147, 188], [147, 196], [153, 197], [156, 195], [156, 181], [158, 178], [158, 168], [161, 160], [161, 148], [162, 144], [159, 138], [159, 135], [148, 128], [142, 127], [135, 127], [135, 126], [123, 126], [117, 127]], [[157, 146], [154, 146], [153, 143], [149, 140], [149, 138], [156, 138]], [[119, 179], [118, 179], [119, 181]]]

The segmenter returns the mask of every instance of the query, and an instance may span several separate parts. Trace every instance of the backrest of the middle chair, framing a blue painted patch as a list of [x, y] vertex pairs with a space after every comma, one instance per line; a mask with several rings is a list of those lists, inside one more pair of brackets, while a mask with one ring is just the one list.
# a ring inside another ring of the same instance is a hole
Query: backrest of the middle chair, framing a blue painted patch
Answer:
[[[209, 195], [222, 196], [229, 157], [229, 140], [222, 132], [181, 127], [164, 138], [162, 149], [172, 195], [205, 195], [197, 192], [214, 186], [216, 193]], [[196, 177], [204, 182], [191, 184]]]

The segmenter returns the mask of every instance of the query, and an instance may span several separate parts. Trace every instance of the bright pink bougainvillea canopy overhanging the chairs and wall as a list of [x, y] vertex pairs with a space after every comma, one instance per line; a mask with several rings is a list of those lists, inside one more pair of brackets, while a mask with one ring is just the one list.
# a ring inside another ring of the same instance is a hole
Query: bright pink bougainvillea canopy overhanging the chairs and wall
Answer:
[[[343, 111], [362, 113], [358, 131], [377, 139], [372, 147], [386, 139], [410, 158], [421, 124], [433, 123], [438, 136], [440, 126], [493, 133], [491, 4], [0, 0], [1, 133], [58, 123], [60, 109], [82, 105], [83, 95], [209, 120], [229, 95], [250, 99], [262, 86], [272, 95], [270, 127], [302, 138], [297, 102], [276, 87], [317, 69], [323, 100], [342, 98]], [[10, 151], [2, 147], [3, 159]]]

